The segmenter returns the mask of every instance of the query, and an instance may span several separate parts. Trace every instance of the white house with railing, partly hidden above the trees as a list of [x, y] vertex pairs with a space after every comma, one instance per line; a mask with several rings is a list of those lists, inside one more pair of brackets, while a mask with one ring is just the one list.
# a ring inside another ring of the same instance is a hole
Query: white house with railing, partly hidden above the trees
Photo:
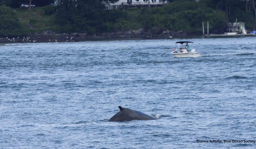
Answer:
[[[167, 4], [168, 0], [149, 0], [150, 6], [160, 6]], [[143, 7], [148, 5], [148, 0], [119, 0], [115, 3], [106, 3], [103, 1], [103, 4], [105, 4], [105, 9], [119, 9], [119, 8], [126, 8], [126, 7]]]

